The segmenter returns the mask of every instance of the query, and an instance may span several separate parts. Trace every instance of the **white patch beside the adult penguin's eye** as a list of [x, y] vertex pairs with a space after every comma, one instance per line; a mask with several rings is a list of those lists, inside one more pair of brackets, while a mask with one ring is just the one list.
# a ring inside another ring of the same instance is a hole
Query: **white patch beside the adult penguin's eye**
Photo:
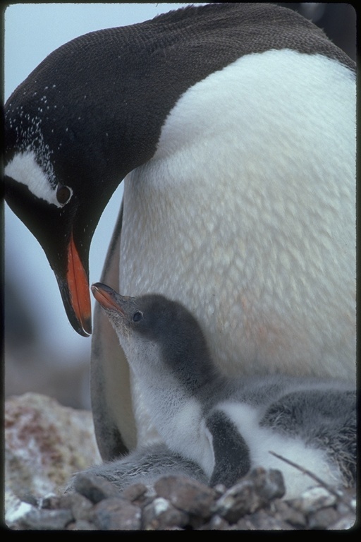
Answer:
[[4, 173], [14, 181], [25, 184], [37, 198], [56, 207], [63, 207], [56, 198], [56, 185], [51, 183], [51, 179], [37, 164], [33, 150], [18, 152], [5, 167]]

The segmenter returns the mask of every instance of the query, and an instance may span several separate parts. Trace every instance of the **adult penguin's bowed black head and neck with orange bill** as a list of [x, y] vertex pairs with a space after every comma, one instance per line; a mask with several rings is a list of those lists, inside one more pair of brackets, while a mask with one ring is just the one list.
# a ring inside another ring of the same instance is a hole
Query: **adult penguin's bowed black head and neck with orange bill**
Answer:
[[156, 147], [149, 125], [146, 148], [147, 119], [139, 121], [121, 97], [127, 56], [114, 55], [112, 37], [103, 37], [102, 55], [97, 32], [57, 49], [5, 106], [6, 203], [42, 245], [68, 318], [84, 336], [91, 333], [94, 230], [123, 177]]

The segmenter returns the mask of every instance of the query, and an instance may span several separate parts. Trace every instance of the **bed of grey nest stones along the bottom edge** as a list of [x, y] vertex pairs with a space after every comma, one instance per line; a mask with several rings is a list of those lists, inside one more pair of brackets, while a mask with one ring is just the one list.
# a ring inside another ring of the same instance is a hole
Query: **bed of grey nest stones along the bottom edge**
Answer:
[[[306, 475], [305, 475], [306, 476]], [[309, 530], [350, 529], [355, 490], [325, 487], [282, 500], [280, 471], [255, 469], [232, 488], [209, 488], [191, 478], [164, 476], [118, 491], [90, 473], [78, 474], [74, 490], [42, 499], [27, 495], [27, 513], [11, 529], [35, 530]]]

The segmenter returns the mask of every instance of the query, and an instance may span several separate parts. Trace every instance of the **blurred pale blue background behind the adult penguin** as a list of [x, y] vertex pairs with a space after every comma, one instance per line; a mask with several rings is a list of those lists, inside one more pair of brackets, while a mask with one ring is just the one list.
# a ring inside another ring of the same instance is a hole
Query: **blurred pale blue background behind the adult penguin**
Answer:
[[[50, 52], [74, 37], [140, 23], [187, 4], [14, 4], [4, 11], [4, 97]], [[323, 28], [356, 59], [356, 13], [350, 4], [281, 3]], [[121, 203], [114, 193], [95, 231], [90, 284], [102, 264]], [[53, 272], [35, 238], [5, 205], [5, 395], [32, 391], [66, 406], [90, 408], [90, 338], [68, 323]], [[94, 308], [94, 300], [93, 300]]]

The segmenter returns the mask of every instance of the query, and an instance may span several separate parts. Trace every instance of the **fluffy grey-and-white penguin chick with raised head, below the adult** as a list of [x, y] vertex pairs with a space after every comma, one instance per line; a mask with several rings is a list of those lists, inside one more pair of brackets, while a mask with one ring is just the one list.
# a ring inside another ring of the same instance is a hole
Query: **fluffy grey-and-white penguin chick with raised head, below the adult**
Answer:
[[104, 284], [92, 293], [109, 317], [152, 422], [171, 452], [200, 465], [209, 483], [231, 486], [254, 466], [283, 471], [287, 498], [310, 480], [355, 478], [355, 390], [336, 380], [226, 378], [217, 371], [192, 314], [158, 294], [128, 297]]

